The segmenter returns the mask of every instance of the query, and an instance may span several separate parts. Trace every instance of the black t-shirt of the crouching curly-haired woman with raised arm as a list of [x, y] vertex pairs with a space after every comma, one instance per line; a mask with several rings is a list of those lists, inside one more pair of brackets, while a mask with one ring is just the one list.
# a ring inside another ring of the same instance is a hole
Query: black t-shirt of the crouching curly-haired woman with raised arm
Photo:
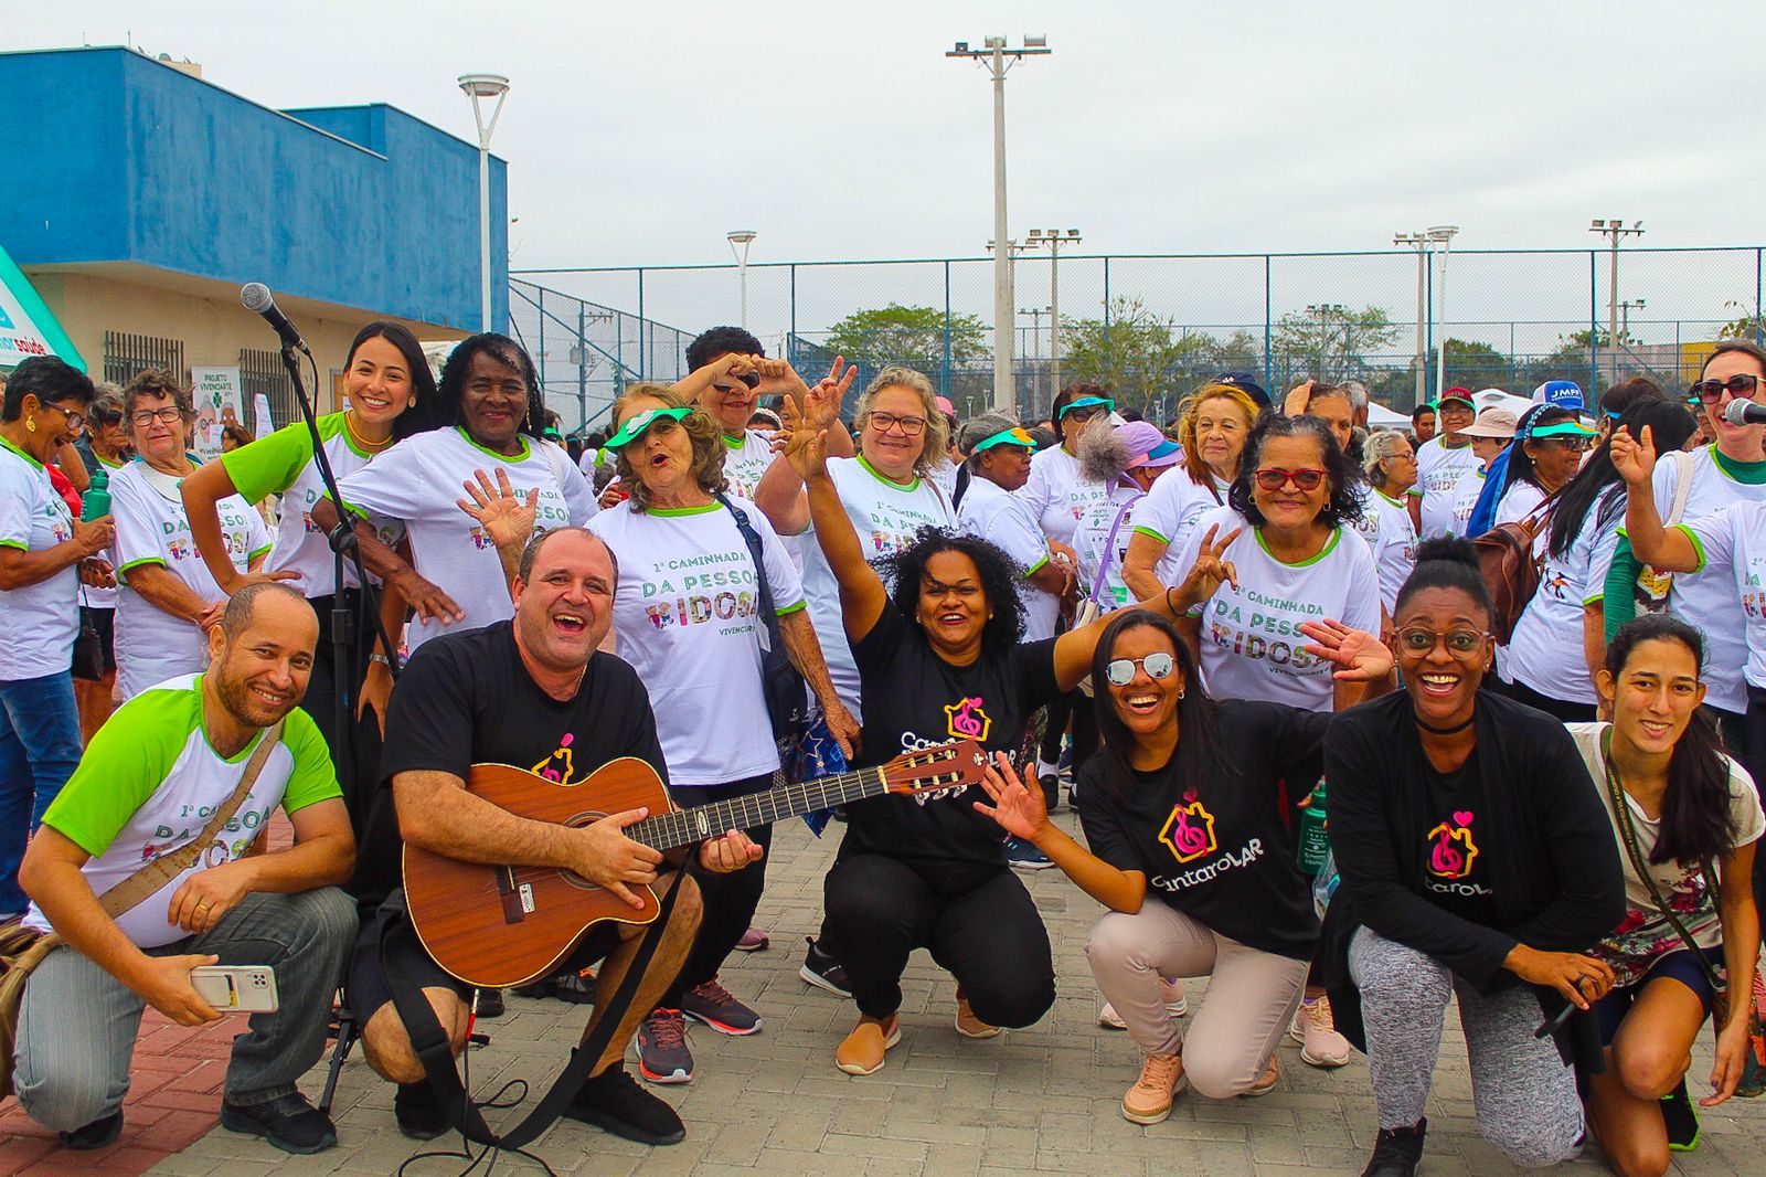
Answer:
[[[1053, 638], [952, 666], [894, 604], [885, 604], [871, 633], [853, 643], [853, 659], [865, 712], [858, 767], [962, 739], [1017, 755], [1030, 718], [1060, 695]], [[971, 804], [985, 799], [980, 788], [970, 788], [957, 795], [860, 801], [846, 809], [841, 854], [887, 854], [929, 875], [1001, 868], [1005, 832]]]

